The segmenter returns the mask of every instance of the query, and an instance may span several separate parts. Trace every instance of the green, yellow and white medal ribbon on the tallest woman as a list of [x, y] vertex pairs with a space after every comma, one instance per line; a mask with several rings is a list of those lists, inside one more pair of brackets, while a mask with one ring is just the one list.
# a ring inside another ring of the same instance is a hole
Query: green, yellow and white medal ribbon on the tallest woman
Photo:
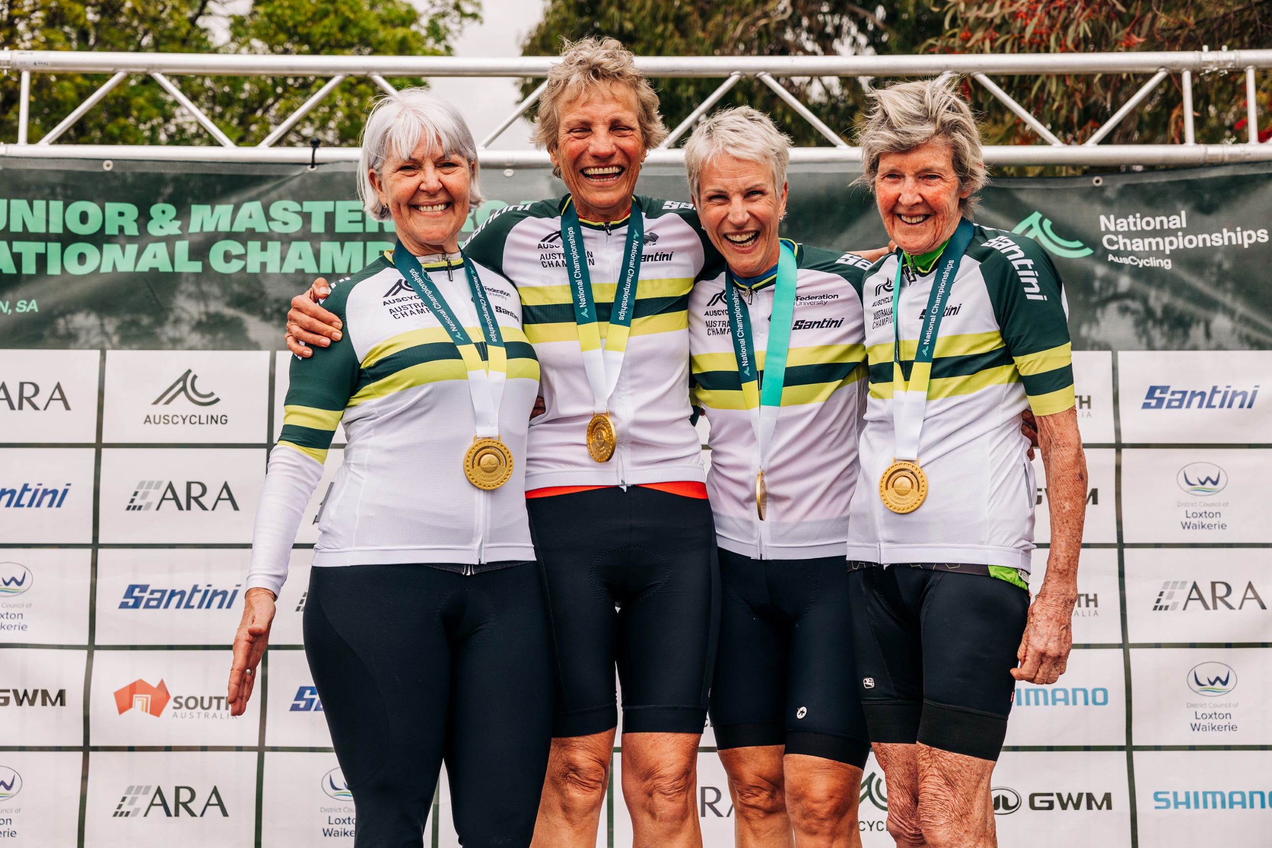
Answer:
[[623, 244], [623, 264], [614, 291], [614, 304], [609, 310], [609, 332], [604, 347], [597, 319], [597, 303], [591, 296], [591, 275], [583, 244], [583, 225], [574, 198], [566, 197], [561, 211], [561, 248], [570, 270], [570, 291], [574, 303], [574, 320], [579, 327], [579, 350], [583, 351], [583, 370], [591, 386], [593, 412], [608, 409], [609, 395], [618, 385], [618, 375], [627, 355], [627, 337], [631, 334], [632, 315], [636, 311], [636, 285], [640, 281], [640, 254], [645, 247], [645, 217], [632, 202], [627, 221], [627, 242]]

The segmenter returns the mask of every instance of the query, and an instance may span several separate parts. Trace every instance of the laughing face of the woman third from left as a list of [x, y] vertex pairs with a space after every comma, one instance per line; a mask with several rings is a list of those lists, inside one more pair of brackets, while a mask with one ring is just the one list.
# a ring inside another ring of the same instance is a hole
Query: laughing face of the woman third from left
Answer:
[[786, 214], [786, 184], [773, 186], [768, 165], [719, 155], [698, 172], [695, 207], [702, 229], [729, 268], [754, 277], [777, 263], [777, 226]]

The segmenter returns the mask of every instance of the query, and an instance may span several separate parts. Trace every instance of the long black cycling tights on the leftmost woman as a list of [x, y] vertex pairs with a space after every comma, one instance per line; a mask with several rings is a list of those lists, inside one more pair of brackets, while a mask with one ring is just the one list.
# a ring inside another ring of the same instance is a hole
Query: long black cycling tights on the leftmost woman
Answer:
[[313, 568], [304, 632], [357, 848], [421, 848], [443, 760], [462, 844], [530, 844], [552, 732], [534, 563]]

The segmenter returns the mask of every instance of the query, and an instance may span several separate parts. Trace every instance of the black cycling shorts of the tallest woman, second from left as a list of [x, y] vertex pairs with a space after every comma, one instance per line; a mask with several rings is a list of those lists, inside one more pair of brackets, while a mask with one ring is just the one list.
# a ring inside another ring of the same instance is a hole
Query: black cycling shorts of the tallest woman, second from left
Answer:
[[[556, 651], [553, 736], [701, 734], [719, 572], [706, 498], [631, 486], [527, 500]], [[617, 608], [617, 609], [616, 609]]]

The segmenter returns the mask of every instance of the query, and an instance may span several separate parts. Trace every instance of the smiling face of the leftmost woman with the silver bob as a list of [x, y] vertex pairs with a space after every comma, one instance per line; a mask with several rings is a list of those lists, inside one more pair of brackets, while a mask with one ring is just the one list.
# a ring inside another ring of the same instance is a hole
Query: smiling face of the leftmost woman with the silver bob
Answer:
[[468, 217], [468, 188], [477, 163], [446, 155], [434, 140], [421, 140], [407, 159], [389, 154], [369, 177], [389, 207], [402, 245], [415, 256], [455, 253]]

